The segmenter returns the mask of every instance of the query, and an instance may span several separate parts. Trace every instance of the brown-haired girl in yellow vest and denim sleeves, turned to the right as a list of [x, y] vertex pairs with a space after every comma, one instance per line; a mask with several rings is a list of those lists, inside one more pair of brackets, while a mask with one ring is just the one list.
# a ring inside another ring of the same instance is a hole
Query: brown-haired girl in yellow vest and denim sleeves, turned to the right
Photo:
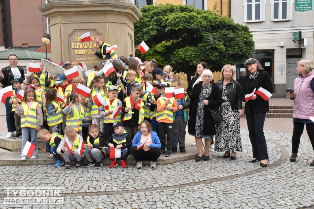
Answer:
[[63, 123], [60, 103], [57, 101], [57, 90], [49, 89], [46, 93], [47, 123], [51, 128], [51, 133], [61, 134], [61, 124]]

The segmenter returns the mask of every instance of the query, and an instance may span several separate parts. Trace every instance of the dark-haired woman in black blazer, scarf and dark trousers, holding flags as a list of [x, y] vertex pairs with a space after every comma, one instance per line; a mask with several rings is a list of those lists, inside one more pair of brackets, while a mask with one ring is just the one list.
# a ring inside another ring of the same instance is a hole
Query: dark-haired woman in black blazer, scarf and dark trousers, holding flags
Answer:
[[[272, 81], [268, 72], [263, 71], [262, 65], [258, 60], [251, 58], [246, 60], [244, 89], [242, 99], [245, 101], [245, 95], [258, 90], [260, 87], [273, 93]], [[255, 163], [257, 160], [262, 162], [260, 166], [265, 167], [268, 164], [268, 153], [266, 139], [264, 136], [264, 121], [266, 112], [269, 111], [268, 100], [265, 101], [261, 96], [254, 94], [253, 97], [245, 103], [245, 115], [249, 137], [252, 144], [253, 158], [249, 161]]]

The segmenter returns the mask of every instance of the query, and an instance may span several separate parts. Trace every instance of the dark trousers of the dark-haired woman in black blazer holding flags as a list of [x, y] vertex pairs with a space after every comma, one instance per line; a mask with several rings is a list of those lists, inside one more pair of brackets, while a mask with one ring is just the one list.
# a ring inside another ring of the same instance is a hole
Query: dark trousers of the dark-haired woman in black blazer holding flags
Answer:
[[252, 144], [253, 158], [268, 159], [264, 122], [266, 112], [250, 112], [246, 114], [247, 128]]

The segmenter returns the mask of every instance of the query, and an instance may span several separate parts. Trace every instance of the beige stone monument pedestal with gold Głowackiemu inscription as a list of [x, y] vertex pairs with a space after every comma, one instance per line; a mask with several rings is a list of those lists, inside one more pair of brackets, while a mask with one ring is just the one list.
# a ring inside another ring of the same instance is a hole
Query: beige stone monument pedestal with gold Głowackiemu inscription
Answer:
[[[129, 0], [51, 0], [39, 10], [50, 20], [55, 63], [85, 62], [92, 69], [102, 61], [91, 51], [91, 47], [98, 48], [94, 42], [96, 34], [101, 34], [105, 43], [117, 45], [118, 56], [134, 51], [133, 24], [142, 14]], [[86, 32], [90, 32], [92, 41], [81, 43], [80, 36]]]

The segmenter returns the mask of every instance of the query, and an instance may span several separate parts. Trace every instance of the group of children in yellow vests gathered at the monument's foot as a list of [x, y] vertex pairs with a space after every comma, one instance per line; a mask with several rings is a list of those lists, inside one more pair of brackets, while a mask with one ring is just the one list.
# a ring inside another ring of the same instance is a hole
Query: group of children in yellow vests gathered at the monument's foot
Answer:
[[[41, 72], [28, 77], [28, 86], [26, 80], [15, 79], [10, 103], [18, 134], [14, 136], [22, 135], [22, 150], [26, 141], [37, 145], [36, 138], [40, 138], [47, 141], [43, 151], [49, 152], [49, 157], [57, 161], [55, 167], [64, 164], [61, 157], [66, 162], [65, 168], [70, 167], [70, 159], [76, 159], [76, 167], [81, 167], [83, 155], [87, 159], [83, 167], [101, 168], [101, 160], [109, 156], [110, 148], [116, 148], [121, 149], [121, 164], [125, 168], [132, 139], [140, 130], [139, 124], [147, 120], [160, 138], [160, 155], [169, 157], [171, 153], [177, 153], [178, 143], [180, 152], [186, 153], [184, 141], [189, 98], [187, 93], [182, 99], [165, 97], [166, 87], [181, 88], [180, 80], [171, 79], [170, 65], [161, 69], [157, 68], [155, 60], [142, 62], [132, 57], [133, 53], [129, 58], [115, 57], [95, 65], [94, 70], [86, 71], [87, 86], [91, 89], [88, 98], [75, 92], [78, 83], [84, 84], [82, 77], [68, 81], [65, 74], [52, 79]], [[110, 62], [116, 72], [105, 85], [101, 68]], [[145, 90], [147, 83], [156, 90], [154, 94]], [[24, 92], [22, 100], [19, 99], [19, 91]], [[57, 93], [63, 97], [61, 100], [57, 99]], [[97, 94], [108, 105], [99, 107], [94, 100]], [[118, 109], [116, 107], [121, 108], [113, 115]], [[78, 149], [82, 141], [85, 145], [83, 154], [80, 154]], [[67, 142], [72, 145], [72, 152], [66, 148]], [[37, 157], [37, 152], [36, 147], [31, 159]], [[25, 160], [27, 156], [22, 154], [21, 159]], [[116, 165], [117, 161], [113, 159], [109, 167]]]

